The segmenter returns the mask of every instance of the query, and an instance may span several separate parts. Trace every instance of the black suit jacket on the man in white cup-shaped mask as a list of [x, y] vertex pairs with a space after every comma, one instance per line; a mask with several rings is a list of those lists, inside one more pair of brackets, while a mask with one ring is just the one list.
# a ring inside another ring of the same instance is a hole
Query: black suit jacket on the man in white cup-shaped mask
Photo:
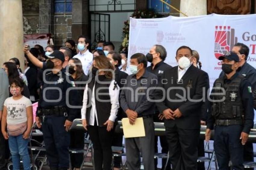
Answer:
[[[164, 99], [163, 102], [156, 102], [160, 112], [168, 108], [172, 111], [179, 108], [182, 113], [180, 118], [165, 120], [164, 125], [167, 127], [176, 125], [181, 129], [199, 129], [201, 106], [203, 104], [203, 100], [200, 99], [203, 98], [203, 93], [209, 87], [208, 74], [191, 65], [178, 83], [177, 80], [178, 66], [167, 69], [159, 82], [159, 86], [164, 90], [157, 90], [156, 92], [156, 99]], [[197, 101], [191, 101], [191, 99]]]

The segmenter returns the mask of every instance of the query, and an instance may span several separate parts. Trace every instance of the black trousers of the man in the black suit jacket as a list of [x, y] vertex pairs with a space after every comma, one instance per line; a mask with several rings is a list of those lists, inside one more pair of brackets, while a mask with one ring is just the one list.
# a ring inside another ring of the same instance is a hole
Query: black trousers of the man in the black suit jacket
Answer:
[[200, 129], [165, 128], [173, 170], [197, 169]]

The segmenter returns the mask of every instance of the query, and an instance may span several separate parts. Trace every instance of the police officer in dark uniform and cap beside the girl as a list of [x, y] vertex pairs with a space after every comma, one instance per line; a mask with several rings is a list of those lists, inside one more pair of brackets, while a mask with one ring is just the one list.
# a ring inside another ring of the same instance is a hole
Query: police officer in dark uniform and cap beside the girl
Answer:
[[[69, 168], [70, 133], [72, 121], [79, 113], [72, 108], [78, 103], [77, 90], [71, 74], [62, 68], [64, 54], [55, 50], [48, 56], [42, 86], [43, 96], [39, 99], [36, 112], [37, 126], [41, 127], [44, 136], [46, 155], [51, 170]], [[70, 90], [70, 92], [69, 92]]]

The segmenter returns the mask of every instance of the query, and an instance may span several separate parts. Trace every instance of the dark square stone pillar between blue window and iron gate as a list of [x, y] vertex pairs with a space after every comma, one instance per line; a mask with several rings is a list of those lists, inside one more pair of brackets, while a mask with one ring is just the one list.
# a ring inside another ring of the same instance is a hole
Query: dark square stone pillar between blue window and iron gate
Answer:
[[90, 35], [89, 17], [89, 0], [73, 0], [72, 39], [75, 42], [79, 35]]

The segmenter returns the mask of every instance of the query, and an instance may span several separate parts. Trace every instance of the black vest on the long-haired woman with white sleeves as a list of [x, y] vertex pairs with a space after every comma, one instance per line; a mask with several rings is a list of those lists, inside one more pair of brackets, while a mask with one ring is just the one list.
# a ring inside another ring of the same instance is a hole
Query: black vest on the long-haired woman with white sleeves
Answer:
[[[92, 90], [95, 83], [94, 97], [95, 97], [95, 108], [97, 111], [97, 118], [98, 118], [98, 126], [105, 126], [103, 124], [108, 120], [111, 112], [109, 86], [112, 80], [106, 78], [105, 75], [99, 75], [98, 79], [99, 81], [103, 81], [104, 83], [95, 81], [95, 77], [92, 77], [92, 81], [88, 83], [86, 121], [87, 121], [87, 124], [89, 125], [90, 112], [92, 108], [92, 105], [91, 105]], [[99, 89], [99, 88], [102, 88], [102, 89]]]

